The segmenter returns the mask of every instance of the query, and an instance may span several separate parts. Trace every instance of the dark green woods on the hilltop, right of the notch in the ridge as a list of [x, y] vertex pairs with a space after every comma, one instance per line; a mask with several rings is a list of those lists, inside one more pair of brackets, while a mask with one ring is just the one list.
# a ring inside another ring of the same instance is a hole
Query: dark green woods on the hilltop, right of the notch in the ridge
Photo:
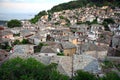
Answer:
[[115, 6], [120, 7], [120, 1], [119, 0], [76, 0], [76, 1], [71, 1], [71, 2], [68, 2], [68, 3], [63, 3], [63, 4], [56, 5], [50, 11], [51, 12], [57, 12], [57, 11], [61, 11], [61, 10], [85, 7], [86, 5], [88, 5], [88, 6], [108, 5], [108, 6], [111, 6], [111, 7], [115, 7]]

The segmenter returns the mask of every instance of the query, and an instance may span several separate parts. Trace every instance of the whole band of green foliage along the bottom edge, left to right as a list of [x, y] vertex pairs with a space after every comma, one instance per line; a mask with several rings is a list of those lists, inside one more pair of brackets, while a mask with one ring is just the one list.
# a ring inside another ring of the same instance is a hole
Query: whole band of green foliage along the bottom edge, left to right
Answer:
[[[0, 66], [0, 80], [70, 80], [68, 76], [57, 71], [57, 64], [44, 65], [33, 59], [10, 59]], [[109, 72], [100, 78], [95, 75], [78, 70], [71, 80], [120, 80], [120, 77]]]

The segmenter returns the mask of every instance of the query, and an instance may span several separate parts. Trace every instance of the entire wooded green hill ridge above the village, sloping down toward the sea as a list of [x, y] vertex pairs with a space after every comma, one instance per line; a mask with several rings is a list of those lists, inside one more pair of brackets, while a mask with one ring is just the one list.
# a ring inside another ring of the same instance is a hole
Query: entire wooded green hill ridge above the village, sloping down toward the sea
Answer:
[[62, 3], [59, 5], [54, 6], [50, 10], [46, 11], [41, 11], [37, 15], [35, 15], [34, 18], [30, 20], [31, 23], [36, 23], [40, 17], [46, 15], [46, 14], [51, 14], [54, 12], [62, 11], [62, 10], [68, 10], [68, 9], [76, 9], [80, 7], [85, 7], [85, 6], [111, 6], [112, 8], [114, 7], [120, 7], [120, 0], [74, 0], [70, 1], [67, 3]]

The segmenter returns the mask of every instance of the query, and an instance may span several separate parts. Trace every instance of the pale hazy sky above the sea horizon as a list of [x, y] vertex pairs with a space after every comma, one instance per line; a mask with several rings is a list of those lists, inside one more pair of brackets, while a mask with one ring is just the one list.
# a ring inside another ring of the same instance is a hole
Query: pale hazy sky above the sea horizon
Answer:
[[38, 13], [71, 0], [0, 0], [0, 13]]

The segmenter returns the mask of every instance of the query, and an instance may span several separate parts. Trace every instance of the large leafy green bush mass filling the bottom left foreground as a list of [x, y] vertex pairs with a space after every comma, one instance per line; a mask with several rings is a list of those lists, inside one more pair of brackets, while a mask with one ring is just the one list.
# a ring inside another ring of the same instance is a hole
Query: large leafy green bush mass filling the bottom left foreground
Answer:
[[57, 64], [46, 66], [33, 58], [15, 58], [0, 67], [0, 80], [68, 80], [56, 67]]

